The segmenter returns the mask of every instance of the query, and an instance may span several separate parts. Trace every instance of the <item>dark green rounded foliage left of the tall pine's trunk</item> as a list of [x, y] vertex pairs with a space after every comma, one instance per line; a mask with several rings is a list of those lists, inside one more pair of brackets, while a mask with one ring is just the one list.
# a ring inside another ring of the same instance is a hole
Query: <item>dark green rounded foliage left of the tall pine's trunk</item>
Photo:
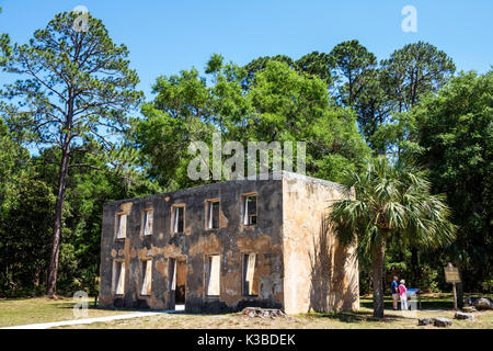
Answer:
[[2, 296], [42, 293], [50, 256], [55, 195], [32, 177], [16, 180], [16, 196], [0, 216]]

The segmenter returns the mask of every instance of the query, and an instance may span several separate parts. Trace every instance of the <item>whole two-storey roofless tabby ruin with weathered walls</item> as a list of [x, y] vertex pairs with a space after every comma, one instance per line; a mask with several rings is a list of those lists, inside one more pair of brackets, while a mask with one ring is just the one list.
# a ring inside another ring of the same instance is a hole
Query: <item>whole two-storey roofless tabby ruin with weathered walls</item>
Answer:
[[357, 309], [355, 247], [339, 245], [323, 220], [343, 194], [283, 171], [106, 203], [100, 306]]

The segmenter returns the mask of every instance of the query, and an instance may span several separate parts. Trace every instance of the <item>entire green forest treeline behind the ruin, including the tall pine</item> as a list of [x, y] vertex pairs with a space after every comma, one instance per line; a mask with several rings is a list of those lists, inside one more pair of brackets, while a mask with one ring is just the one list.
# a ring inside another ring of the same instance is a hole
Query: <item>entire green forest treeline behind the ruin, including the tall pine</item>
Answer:
[[[454, 262], [466, 292], [491, 292], [491, 70], [456, 71], [424, 42], [377, 58], [354, 39], [246, 65], [214, 54], [202, 70], [157, 77], [145, 101], [128, 48], [101, 20], [76, 32], [74, 19], [56, 15], [27, 44], [0, 35], [14, 78], [0, 87], [0, 296], [98, 293], [103, 204], [204, 183], [187, 177], [187, 147], [215, 132], [244, 145], [305, 140], [307, 174], [335, 182], [382, 155], [420, 167], [457, 233], [438, 249], [397, 233], [386, 272], [448, 291]], [[369, 265], [360, 259], [362, 293]]]

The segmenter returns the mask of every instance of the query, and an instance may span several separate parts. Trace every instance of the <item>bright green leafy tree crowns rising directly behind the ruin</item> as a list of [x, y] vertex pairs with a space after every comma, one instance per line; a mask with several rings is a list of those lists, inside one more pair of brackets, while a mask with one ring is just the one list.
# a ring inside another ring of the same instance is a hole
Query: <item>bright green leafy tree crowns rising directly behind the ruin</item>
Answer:
[[354, 114], [335, 105], [320, 78], [272, 60], [244, 90], [249, 72], [216, 55], [206, 71], [210, 84], [195, 69], [158, 78], [146, 118], [136, 121], [136, 147], [161, 185], [190, 185], [186, 148], [192, 139], [210, 144], [213, 132], [245, 148], [249, 140], [306, 140], [307, 172], [331, 180], [368, 155]]

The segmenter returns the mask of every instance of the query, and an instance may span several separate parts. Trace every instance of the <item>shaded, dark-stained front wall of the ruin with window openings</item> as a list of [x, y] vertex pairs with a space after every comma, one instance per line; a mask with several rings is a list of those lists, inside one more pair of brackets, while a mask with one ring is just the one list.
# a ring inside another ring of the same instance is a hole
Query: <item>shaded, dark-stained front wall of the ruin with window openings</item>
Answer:
[[[257, 224], [242, 224], [243, 193], [257, 193]], [[220, 199], [218, 229], [206, 229], [205, 202]], [[172, 205], [185, 204], [185, 229], [173, 234]], [[152, 235], [144, 236], [145, 210], [153, 210]], [[107, 203], [101, 239], [101, 306], [174, 308], [171, 291], [172, 259], [186, 260], [187, 312], [237, 310], [243, 306], [283, 306], [283, 186], [280, 180], [231, 181], [173, 193]], [[126, 238], [115, 240], [116, 214], [127, 214]], [[243, 296], [242, 259], [256, 253], [259, 296]], [[205, 265], [220, 254], [220, 294], [205, 294]], [[140, 294], [142, 259], [152, 259], [152, 292]], [[113, 261], [126, 267], [125, 294], [112, 292]]]

